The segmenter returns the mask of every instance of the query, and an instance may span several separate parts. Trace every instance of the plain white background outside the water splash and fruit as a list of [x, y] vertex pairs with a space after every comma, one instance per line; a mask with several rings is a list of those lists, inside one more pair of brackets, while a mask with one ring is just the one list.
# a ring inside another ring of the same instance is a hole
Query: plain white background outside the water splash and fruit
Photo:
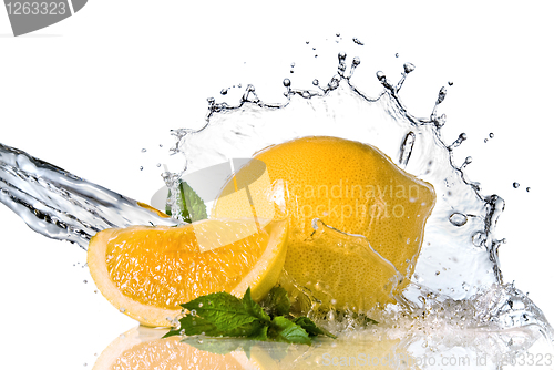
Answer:
[[[548, 1], [92, 0], [13, 38], [2, 9], [0, 142], [148, 202], [163, 184], [155, 164], [170, 162], [170, 130], [202, 125], [206, 97], [236, 103], [238, 89], [224, 97], [223, 88], [252, 83], [263, 100], [283, 101], [284, 78], [297, 88], [327, 82], [343, 50], [361, 58], [358, 84], [375, 95], [375, 72], [396, 81], [411, 62], [401, 99], [417, 116], [454, 83], [440, 107], [443, 138], [468, 133], [456, 164], [473, 156], [470, 179], [506, 201], [505, 280], [553, 321], [550, 16]], [[83, 250], [31, 232], [4, 206], [0, 246], [2, 368], [91, 368], [135, 326], [94, 294]]]

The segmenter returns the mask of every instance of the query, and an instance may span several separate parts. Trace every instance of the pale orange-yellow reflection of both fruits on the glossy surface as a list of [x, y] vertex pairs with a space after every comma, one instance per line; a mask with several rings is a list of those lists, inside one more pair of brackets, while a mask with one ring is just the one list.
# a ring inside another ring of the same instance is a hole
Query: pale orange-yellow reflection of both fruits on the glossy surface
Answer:
[[[361, 333], [356, 339], [318, 338], [312, 346], [263, 342], [244, 338], [161, 339], [166, 330], [137, 327], [115, 339], [99, 357], [93, 370], [162, 369], [266, 369], [311, 370], [347, 369], [419, 369], [400, 340]], [[204, 345], [212, 343], [203, 350]], [[189, 345], [196, 341], [195, 348]], [[213, 345], [220, 341], [220, 347]], [[247, 347], [248, 356], [243, 350]], [[222, 350], [234, 348], [232, 352]], [[217, 353], [219, 352], [219, 353]], [[225, 354], [220, 354], [225, 353]], [[348, 363], [350, 363], [348, 366]]]

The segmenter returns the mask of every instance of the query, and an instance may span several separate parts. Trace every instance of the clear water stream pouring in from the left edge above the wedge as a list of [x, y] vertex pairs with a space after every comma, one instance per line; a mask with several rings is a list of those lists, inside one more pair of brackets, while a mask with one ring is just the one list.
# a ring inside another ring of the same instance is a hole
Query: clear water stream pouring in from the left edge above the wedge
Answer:
[[144, 204], [2, 144], [0, 202], [34, 232], [83, 249], [109, 227], [176, 224]]

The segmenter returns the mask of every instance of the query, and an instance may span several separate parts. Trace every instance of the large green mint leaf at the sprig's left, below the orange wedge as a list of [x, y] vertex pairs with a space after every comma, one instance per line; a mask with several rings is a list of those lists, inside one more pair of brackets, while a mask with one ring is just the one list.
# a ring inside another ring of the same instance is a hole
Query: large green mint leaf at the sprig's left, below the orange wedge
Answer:
[[181, 306], [189, 311], [179, 320], [181, 330], [187, 336], [249, 337], [264, 327], [246, 310], [240, 299], [225, 291], [198, 297]]

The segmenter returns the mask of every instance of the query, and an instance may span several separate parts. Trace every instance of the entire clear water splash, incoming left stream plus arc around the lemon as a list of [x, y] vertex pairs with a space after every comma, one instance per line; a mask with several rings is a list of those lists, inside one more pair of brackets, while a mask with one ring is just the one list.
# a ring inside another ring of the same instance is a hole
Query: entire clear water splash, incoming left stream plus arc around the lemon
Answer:
[[[285, 80], [287, 100], [283, 104], [263, 102], [252, 85], [236, 106], [208, 100], [204, 127], [173, 131], [176, 145], [172, 153], [184, 155], [186, 165], [181, 173], [163, 174], [172, 194], [178, 193], [177, 183], [186, 174], [229, 158], [252, 157], [293, 138], [337, 136], [371, 144], [400, 168], [432, 184], [437, 194], [411, 284], [402, 297], [397, 297], [401, 309], [410, 314], [404, 317], [411, 321], [403, 328], [414, 328], [413, 319], [429, 317], [456, 328], [535, 326], [552, 341], [552, 329], [541, 310], [502, 280], [497, 258], [502, 241], [495, 236], [495, 225], [504, 208], [503, 199], [481, 194], [476, 184], [466, 181], [463, 167], [468, 161], [461, 167], [453, 165], [453, 150], [465, 140], [464, 134], [452, 144], [441, 138], [445, 116], [437, 111], [447, 89], [440, 89], [430, 117], [418, 119], [399, 99], [406, 78], [414, 71], [412, 64], [404, 64], [398, 83], [378, 72], [383, 90], [370, 97], [350, 80], [360, 60], [355, 58], [348, 69], [346, 56], [339, 54], [338, 73], [326, 85], [315, 81], [312, 90], [300, 90]], [[1, 144], [0, 202], [33, 230], [78, 243], [84, 249], [90, 237], [105, 228], [182, 223]], [[172, 214], [179, 214], [176, 197], [168, 202]], [[382, 322], [399, 322], [393, 314]], [[464, 320], [455, 321], [459, 317]]]

